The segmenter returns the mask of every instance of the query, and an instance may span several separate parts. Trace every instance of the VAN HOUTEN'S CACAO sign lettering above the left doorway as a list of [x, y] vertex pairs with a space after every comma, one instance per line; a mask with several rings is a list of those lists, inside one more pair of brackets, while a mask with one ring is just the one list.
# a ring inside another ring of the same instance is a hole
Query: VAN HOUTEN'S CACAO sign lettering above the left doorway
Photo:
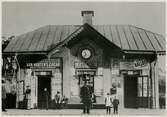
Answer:
[[27, 63], [30, 68], [56, 68], [61, 67], [61, 59], [44, 59], [37, 63]]

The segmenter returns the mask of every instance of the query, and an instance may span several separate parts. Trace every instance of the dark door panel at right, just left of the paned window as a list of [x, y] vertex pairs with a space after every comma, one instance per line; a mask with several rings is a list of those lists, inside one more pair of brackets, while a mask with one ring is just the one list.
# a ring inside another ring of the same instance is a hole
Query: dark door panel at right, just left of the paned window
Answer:
[[137, 77], [126, 76], [124, 79], [124, 105], [137, 108]]

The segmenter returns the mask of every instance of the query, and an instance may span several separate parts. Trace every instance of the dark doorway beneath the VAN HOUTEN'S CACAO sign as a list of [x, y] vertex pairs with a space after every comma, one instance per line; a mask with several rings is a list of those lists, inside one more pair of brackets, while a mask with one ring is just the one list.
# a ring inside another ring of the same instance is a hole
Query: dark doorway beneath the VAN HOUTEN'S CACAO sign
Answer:
[[[38, 108], [46, 108], [46, 99], [44, 89], [47, 88], [49, 93], [50, 100], [50, 92], [51, 92], [51, 78], [50, 76], [38, 76]], [[49, 102], [48, 102], [49, 103]]]

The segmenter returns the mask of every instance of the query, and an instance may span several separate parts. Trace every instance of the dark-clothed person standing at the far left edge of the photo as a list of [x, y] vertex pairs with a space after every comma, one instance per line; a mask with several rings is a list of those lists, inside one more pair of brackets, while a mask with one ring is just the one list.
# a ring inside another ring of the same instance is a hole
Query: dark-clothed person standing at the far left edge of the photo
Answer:
[[6, 112], [6, 88], [5, 81], [2, 80], [2, 111]]

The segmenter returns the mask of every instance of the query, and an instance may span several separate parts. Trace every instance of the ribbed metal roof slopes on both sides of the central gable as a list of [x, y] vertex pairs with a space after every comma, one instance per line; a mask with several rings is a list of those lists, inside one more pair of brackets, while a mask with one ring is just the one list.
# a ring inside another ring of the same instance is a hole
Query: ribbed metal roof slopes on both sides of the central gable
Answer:
[[[95, 31], [123, 51], [165, 51], [162, 35], [131, 25], [94, 25]], [[48, 25], [13, 39], [4, 52], [47, 52], [84, 25]]]

